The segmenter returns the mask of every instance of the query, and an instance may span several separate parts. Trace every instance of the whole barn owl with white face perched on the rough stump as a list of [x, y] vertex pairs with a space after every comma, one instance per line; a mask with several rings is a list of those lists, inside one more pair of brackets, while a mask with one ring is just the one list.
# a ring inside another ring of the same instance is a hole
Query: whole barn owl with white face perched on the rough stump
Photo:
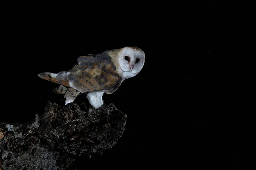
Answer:
[[66, 105], [73, 102], [79, 93], [86, 93], [90, 105], [99, 108], [103, 105], [103, 94], [112, 94], [123, 80], [137, 75], [144, 62], [144, 51], [137, 47], [124, 47], [81, 56], [69, 71], [58, 74], [45, 72], [38, 76], [60, 84], [53, 91], [64, 94]]

